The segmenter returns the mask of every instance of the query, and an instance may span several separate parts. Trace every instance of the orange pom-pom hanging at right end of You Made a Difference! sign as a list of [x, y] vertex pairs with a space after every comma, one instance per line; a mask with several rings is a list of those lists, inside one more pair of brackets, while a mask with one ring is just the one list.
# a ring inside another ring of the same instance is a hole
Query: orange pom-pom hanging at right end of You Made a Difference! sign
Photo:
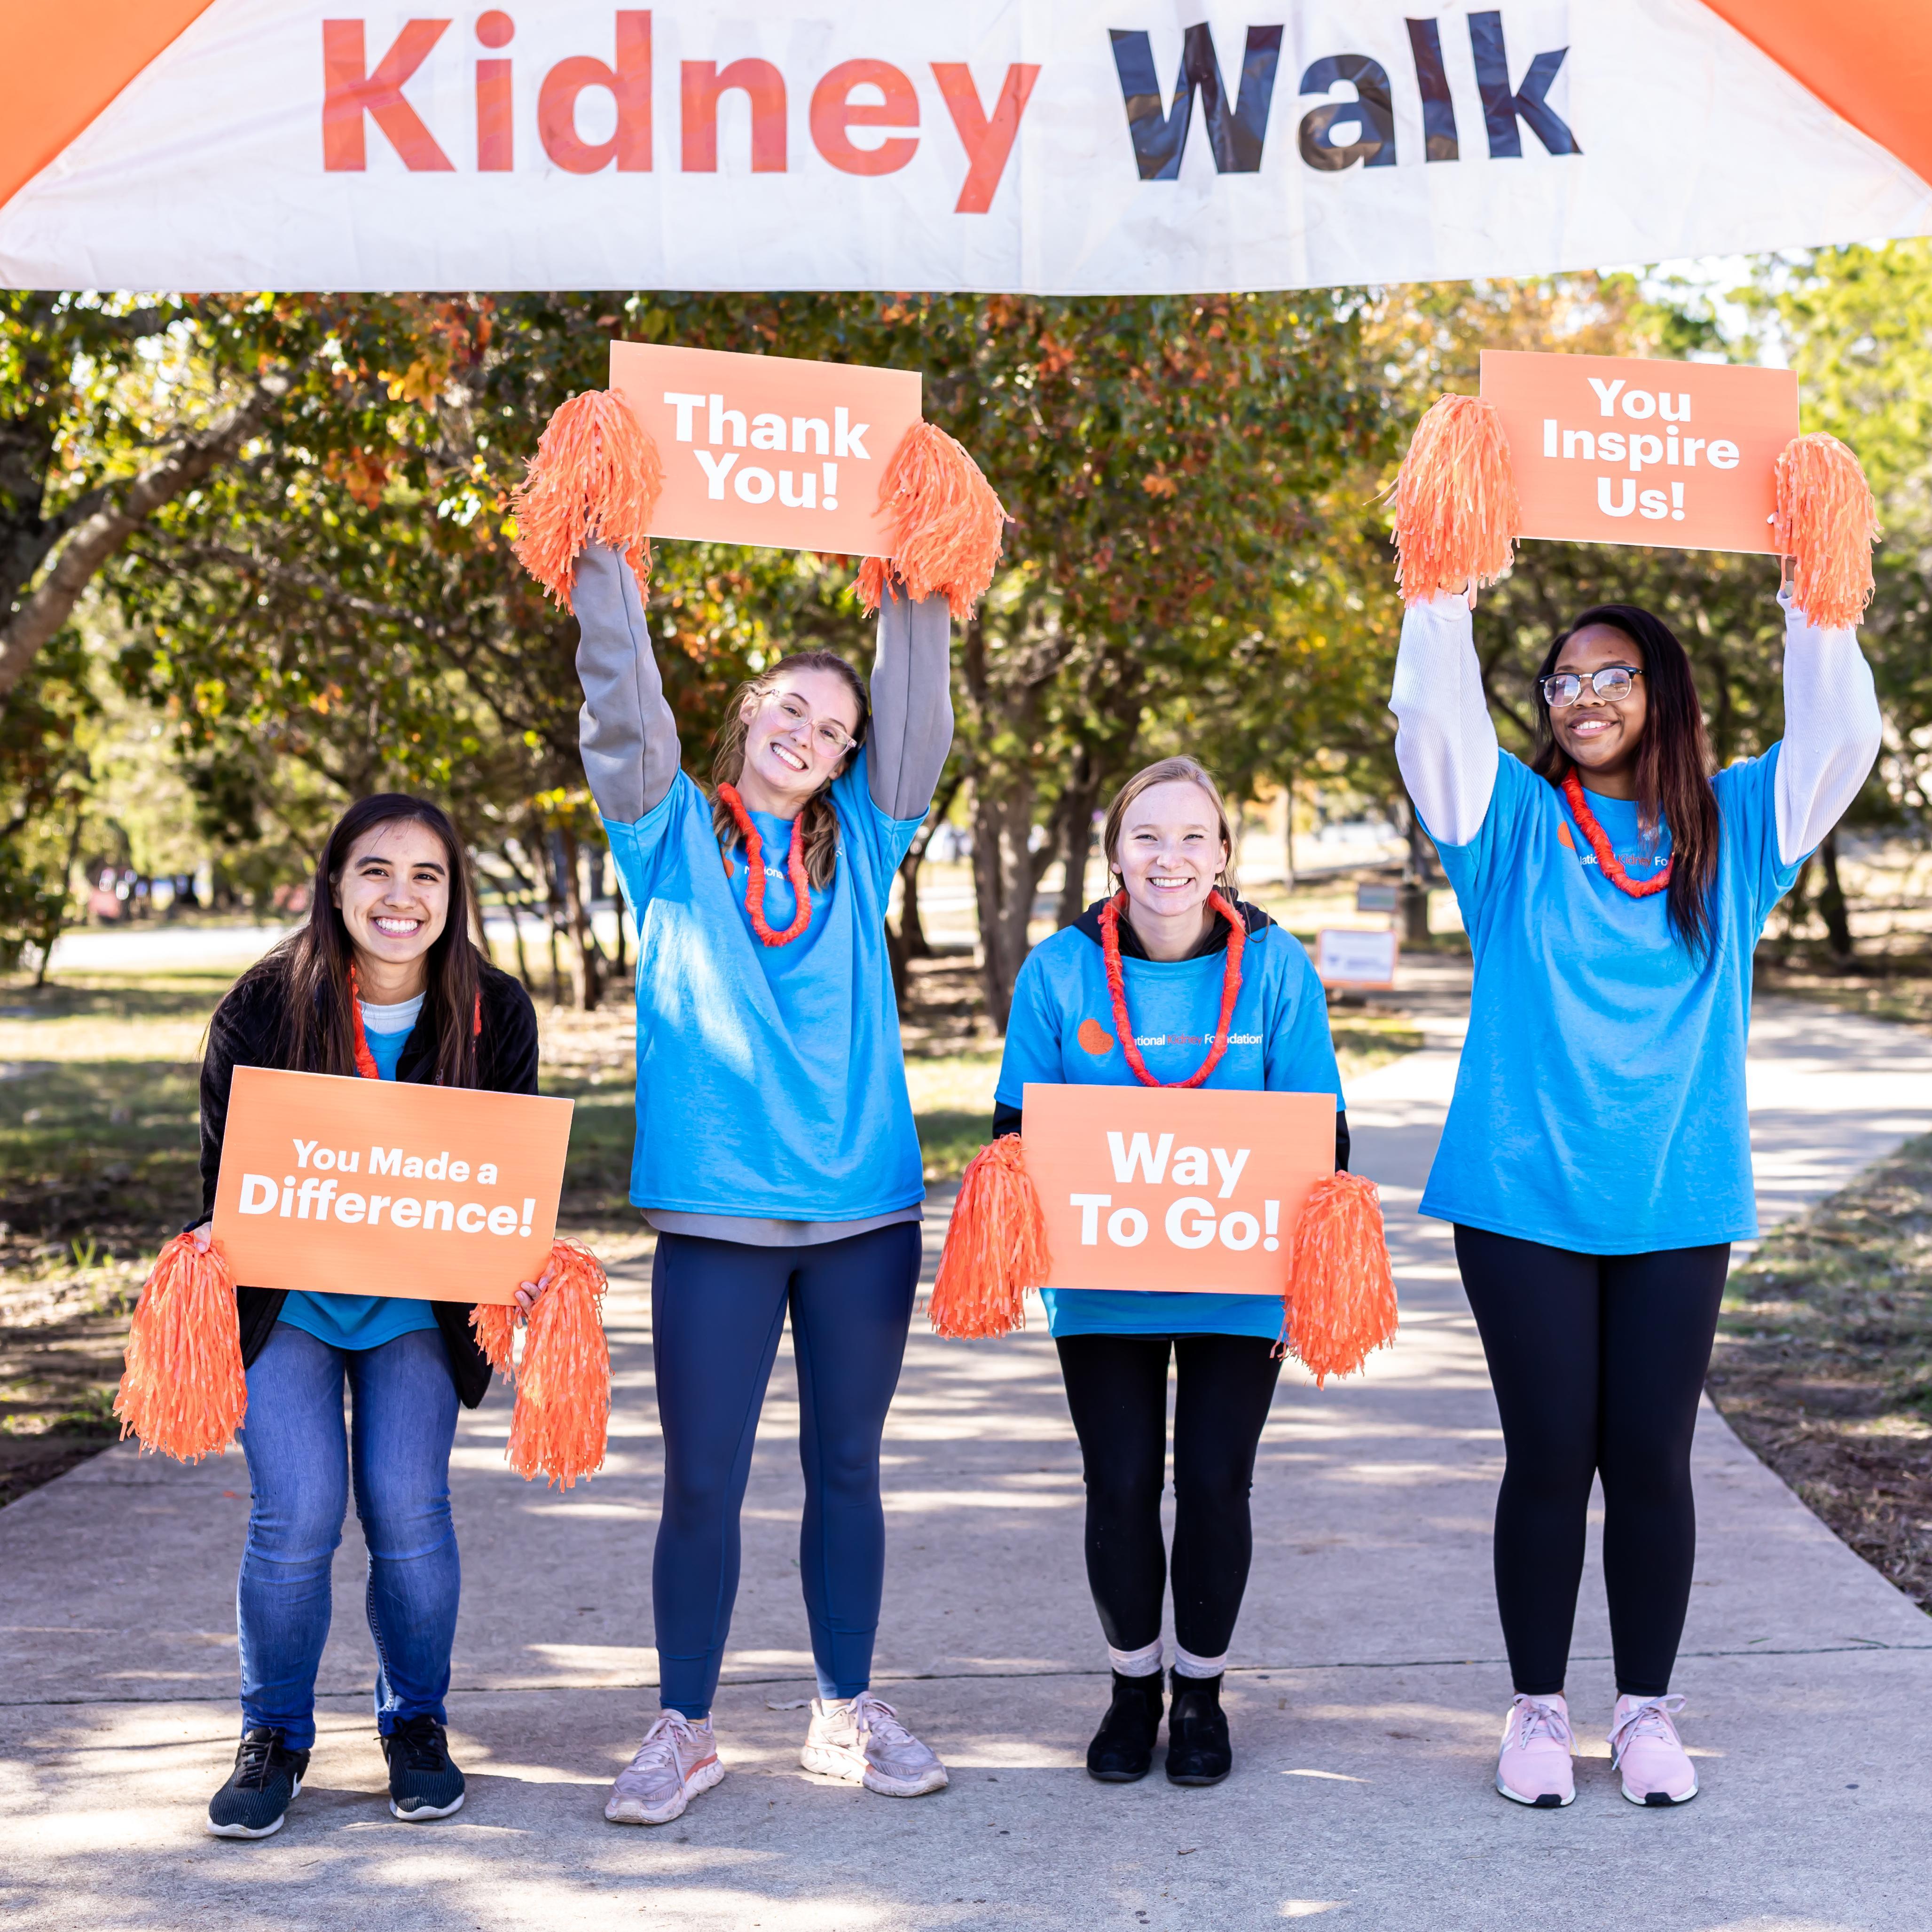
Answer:
[[568, 1490], [603, 1468], [611, 1424], [611, 1349], [599, 1300], [605, 1271], [578, 1240], [551, 1246], [551, 1285], [529, 1312], [504, 1451], [518, 1476]]

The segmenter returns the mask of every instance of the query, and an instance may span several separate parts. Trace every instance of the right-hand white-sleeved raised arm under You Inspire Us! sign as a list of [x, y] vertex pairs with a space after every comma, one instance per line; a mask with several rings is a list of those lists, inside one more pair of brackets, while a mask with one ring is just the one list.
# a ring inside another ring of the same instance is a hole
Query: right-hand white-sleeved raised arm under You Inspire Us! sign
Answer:
[[1872, 667], [1855, 630], [1818, 630], [1785, 607], [1785, 742], [1777, 753], [1777, 856], [1795, 866], [1859, 796], [1878, 757], [1882, 724]]

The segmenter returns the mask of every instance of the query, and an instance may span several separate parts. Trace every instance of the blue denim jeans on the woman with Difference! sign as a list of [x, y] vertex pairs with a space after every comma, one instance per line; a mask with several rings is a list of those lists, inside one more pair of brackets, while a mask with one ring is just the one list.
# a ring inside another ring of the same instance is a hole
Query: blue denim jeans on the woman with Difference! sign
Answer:
[[[344, 1428], [342, 1383], [354, 1399]], [[242, 1727], [278, 1725], [292, 1750], [315, 1745], [315, 1673], [328, 1640], [328, 1571], [342, 1542], [350, 1474], [369, 1546], [377, 1729], [425, 1712], [446, 1721], [462, 1565], [450, 1520], [456, 1381], [439, 1329], [377, 1349], [332, 1349], [276, 1321], [247, 1372], [253, 1499], [236, 1586]]]

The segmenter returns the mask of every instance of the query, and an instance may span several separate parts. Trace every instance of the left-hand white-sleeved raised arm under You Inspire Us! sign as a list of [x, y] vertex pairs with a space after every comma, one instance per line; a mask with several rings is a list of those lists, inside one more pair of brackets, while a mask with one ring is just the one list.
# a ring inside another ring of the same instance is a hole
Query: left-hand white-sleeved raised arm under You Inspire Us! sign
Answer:
[[1395, 653], [1395, 763], [1437, 844], [1468, 844], [1495, 790], [1495, 724], [1468, 601], [1432, 597], [1403, 612]]

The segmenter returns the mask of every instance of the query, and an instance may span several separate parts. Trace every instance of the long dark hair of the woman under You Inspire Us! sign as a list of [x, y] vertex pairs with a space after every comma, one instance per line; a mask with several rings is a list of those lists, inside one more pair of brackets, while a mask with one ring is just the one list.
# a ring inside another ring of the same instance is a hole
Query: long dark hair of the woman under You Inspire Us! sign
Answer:
[[[1569, 630], [1561, 632], [1544, 657], [1538, 678], [1548, 678], [1563, 655], [1563, 645], [1592, 624], [1607, 624], [1631, 639], [1644, 672], [1644, 736], [1636, 744], [1636, 823], [1646, 838], [1658, 827], [1671, 831], [1671, 883], [1665, 891], [1671, 931], [1690, 952], [1708, 952], [1712, 943], [1710, 889], [1718, 879], [1718, 796], [1710, 788], [1710, 740], [1704, 736], [1704, 707], [1696, 701], [1690, 657], [1677, 632], [1636, 605], [1592, 605]], [[1536, 750], [1530, 769], [1561, 784], [1571, 769], [1569, 753], [1549, 728], [1549, 707], [1542, 684], [1536, 686]]]

